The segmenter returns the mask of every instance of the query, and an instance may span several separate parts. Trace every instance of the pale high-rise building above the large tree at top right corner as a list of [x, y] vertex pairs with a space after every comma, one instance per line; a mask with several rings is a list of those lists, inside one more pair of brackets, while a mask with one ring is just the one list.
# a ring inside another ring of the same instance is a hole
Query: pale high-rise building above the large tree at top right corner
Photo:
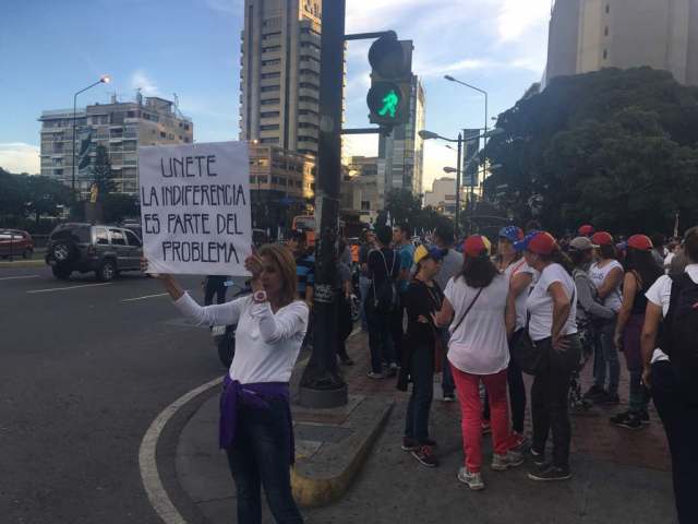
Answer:
[[698, 85], [698, 0], [556, 0], [546, 81], [649, 66]]

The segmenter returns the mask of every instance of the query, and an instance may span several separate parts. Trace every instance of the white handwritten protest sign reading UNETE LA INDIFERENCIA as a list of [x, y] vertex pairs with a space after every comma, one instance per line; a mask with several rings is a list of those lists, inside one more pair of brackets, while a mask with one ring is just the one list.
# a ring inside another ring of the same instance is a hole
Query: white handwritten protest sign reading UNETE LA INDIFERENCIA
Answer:
[[151, 273], [246, 276], [252, 251], [246, 142], [139, 147]]

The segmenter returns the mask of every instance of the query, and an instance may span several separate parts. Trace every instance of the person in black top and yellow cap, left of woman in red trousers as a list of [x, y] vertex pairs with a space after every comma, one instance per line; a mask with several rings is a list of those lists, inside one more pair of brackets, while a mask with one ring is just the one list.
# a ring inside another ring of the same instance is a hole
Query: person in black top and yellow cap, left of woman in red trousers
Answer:
[[438, 465], [429, 438], [429, 412], [434, 395], [436, 343], [440, 335], [434, 314], [441, 310], [444, 294], [434, 276], [441, 269], [445, 250], [420, 246], [414, 251], [417, 274], [404, 295], [407, 310], [407, 338], [398, 388], [406, 388], [405, 379], [412, 382], [412, 395], [407, 405], [402, 450], [428, 467]]

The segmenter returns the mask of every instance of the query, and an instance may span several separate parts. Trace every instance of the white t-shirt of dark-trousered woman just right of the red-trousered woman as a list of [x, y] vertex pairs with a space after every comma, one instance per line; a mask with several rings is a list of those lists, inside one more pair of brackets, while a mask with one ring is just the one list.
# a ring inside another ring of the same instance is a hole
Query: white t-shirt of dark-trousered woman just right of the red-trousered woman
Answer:
[[533, 290], [528, 297], [526, 307], [531, 313], [531, 321], [528, 332], [533, 341], [542, 341], [552, 336], [553, 332], [553, 297], [549, 289], [552, 284], [559, 282], [571, 302], [569, 317], [563, 326], [561, 333], [563, 335], [573, 335], [577, 333], [577, 300], [573, 300], [573, 294], [576, 297], [575, 281], [559, 264], [550, 264], [541, 272], [541, 276], [533, 286]]

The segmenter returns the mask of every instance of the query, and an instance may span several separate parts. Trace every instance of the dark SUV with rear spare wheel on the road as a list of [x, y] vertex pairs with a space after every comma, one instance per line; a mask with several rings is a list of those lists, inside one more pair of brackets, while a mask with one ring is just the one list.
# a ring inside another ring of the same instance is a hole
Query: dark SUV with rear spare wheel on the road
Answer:
[[91, 224], [61, 224], [46, 246], [46, 263], [53, 276], [68, 278], [73, 271], [94, 271], [111, 281], [122, 271], [140, 271], [143, 242], [131, 229]]

